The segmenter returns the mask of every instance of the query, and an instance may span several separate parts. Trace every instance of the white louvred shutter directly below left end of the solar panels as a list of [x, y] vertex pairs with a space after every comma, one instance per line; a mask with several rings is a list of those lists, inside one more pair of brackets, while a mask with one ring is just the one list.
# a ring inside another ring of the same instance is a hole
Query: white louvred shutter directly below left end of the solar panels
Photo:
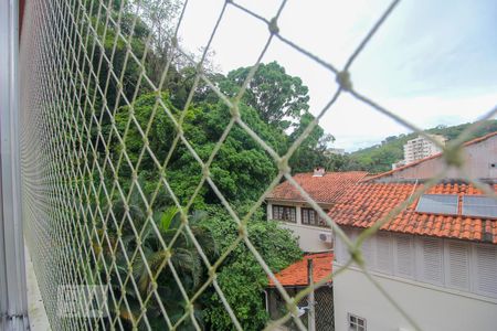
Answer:
[[443, 285], [443, 245], [438, 238], [420, 238], [420, 280]]

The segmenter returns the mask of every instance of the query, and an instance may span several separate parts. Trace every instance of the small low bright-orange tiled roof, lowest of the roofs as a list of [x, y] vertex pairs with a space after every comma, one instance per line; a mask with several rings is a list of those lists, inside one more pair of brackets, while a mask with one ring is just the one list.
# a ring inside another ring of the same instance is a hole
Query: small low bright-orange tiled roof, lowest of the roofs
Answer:
[[[313, 279], [315, 282], [320, 281], [322, 278], [331, 274], [331, 264], [334, 260], [332, 253], [317, 253], [308, 254], [304, 258], [287, 268], [276, 274], [276, 279], [283, 286], [307, 286], [307, 260], [313, 259]], [[331, 280], [329, 281], [331, 282]], [[274, 287], [274, 282], [269, 279], [271, 287]]]

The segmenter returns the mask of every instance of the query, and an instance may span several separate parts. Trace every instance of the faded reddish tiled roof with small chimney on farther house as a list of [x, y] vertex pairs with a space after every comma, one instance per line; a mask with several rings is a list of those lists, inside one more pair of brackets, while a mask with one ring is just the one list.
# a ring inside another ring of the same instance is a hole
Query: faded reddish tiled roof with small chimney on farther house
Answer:
[[[294, 180], [316, 202], [334, 203], [348, 188], [363, 179], [364, 171], [327, 172], [322, 177], [313, 177], [311, 172], [297, 173]], [[304, 197], [288, 181], [277, 185], [267, 196], [269, 200], [304, 201]]]

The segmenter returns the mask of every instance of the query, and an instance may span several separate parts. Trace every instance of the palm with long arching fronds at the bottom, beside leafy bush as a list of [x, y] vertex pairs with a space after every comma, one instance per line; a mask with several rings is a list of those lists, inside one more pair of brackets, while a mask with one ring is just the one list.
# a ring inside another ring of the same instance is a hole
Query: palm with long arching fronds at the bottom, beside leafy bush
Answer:
[[[129, 329], [141, 314], [140, 300], [142, 302], [148, 296], [152, 295], [155, 281], [160, 303], [155, 297], [148, 300], [146, 314], [155, 330], [167, 330], [161, 306], [172, 323], [176, 323], [187, 312], [187, 302], [170, 265], [173, 266], [187, 295], [191, 297], [207, 280], [207, 269], [200, 253], [184, 228], [180, 228], [181, 217], [176, 207], [157, 209], [154, 212], [152, 221], [147, 222], [144, 202], [138, 190], [134, 189], [129, 201], [124, 203], [121, 199], [116, 199], [112, 204], [112, 211], [116, 220], [124, 221], [123, 226], [118, 231], [110, 223], [105, 235], [108, 241], [105, 241], [104, 228], [101, 227], [98, 234], [102, 236], [101, 241], [106, 245], [99, 246], [96, 239], [93, 241], [92, 247], [95, 254], [102, 253], [104, 258], [95, 267], [97, 270], [104, 271], [103, 264], [112, 266], [113, 260], [115, 260], [116, 267], [109, 268], [110, 286], [115, 297], [120, 298], [121, 295], [126, 297], [127, 305], [124, 301], [120, 305], [119, 317], [125, 327]], [[208, 227], [200, 224], [204, 217], [207, 217], [204, 212], [190, 214], [190, 229], [205, 255], [218, 256], [214, 237]], [[154, 231], [150, 222], [156, 224], [159, 234]], [[141, 233], [139, 241], [134, 228]], [[177, 235], [178, 232], [179, 235]], [[118, 235], [118, 233], [120, 234]], [[119, 236], [121, 243], [118, 239]], [[171, 244], [175, 237], [176, 241]], [[165, 249], [162, 243], [172, 246], [170, 249]], [[138, 253], [134, 259], [129, 260], [136, 249], [141, 249], [142, 254]], [[134, 286], [131, 280], [128, 280], [125, 286], [126, 292], [123, 292], [121, 281], [127, 279], [129, 273], [133, 273], [130, 276], [137, 287]], [[105, 279], [105, 273], [102, 276]], [[195, 302], [193, 309], [197, 322], [203, 324], [202, 311], [204, 307], [202, 301]], [[144, 319], [140, 319], [139, 325], [145, 327]], [[181, 329], [194, 330], [189, 319], [182, 322]]]

